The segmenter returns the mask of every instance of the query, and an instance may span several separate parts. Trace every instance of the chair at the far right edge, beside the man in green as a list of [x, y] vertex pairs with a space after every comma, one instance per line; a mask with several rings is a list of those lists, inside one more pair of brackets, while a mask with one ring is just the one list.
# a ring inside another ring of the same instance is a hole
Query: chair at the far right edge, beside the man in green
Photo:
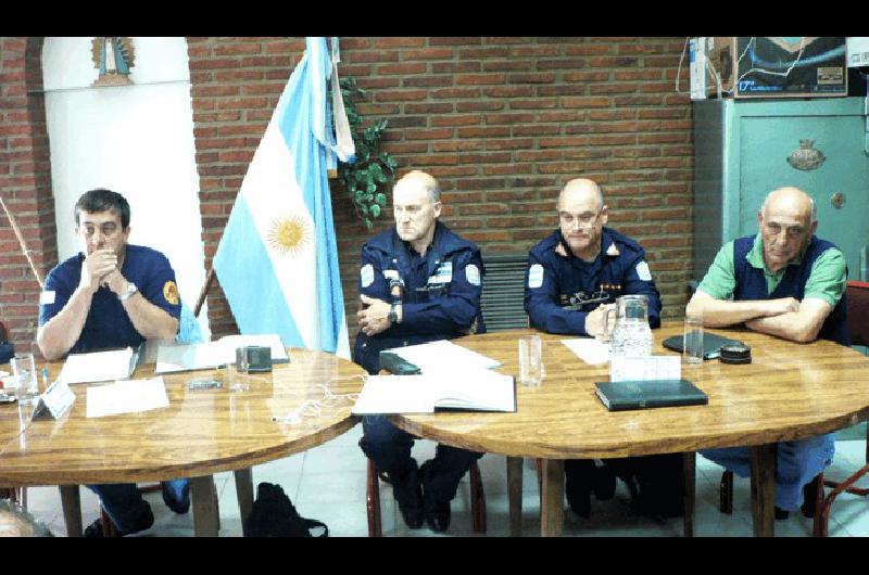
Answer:
[[[848, 309], [848, 329], [852, 345], [869, 346], [869, 282], [849, 281], [845, 291]], [[833, 487], [827, 497], [821, 495], [821, 502], [815, 514], [815, 536], [827, 537], [830, 522], [830, 508], [843, 491], [866, 497], [869, 489], [854, 487], [862, 476], [869, 474], [869, 427], [866, 431], [866, 465], [843, 482], [827, 480], [823, 485]], [[823, 491], [823, 489], [819, 489]]]

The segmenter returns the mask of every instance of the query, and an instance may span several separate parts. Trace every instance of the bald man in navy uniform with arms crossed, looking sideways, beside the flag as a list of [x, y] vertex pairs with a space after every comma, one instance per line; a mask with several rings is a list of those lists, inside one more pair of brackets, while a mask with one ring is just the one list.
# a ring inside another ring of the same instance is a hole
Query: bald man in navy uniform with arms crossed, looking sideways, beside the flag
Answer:
[[[480, 251], [438, 221], [438, 182], [411, 171], [395, 183], [392, 207], [395, 227], [362, 247], [353, 360], [369, 373], [380, 370], [381, 349], [483, 331]], [[458, 482], [482, 453], [438, 445], [434, 459], [417, 468], [413, 436], [385, 417], [364, 418], [363, 433], [360, 447], [389, 474], [407, 526], [418, 528], [425, 518], [446, 531]]]

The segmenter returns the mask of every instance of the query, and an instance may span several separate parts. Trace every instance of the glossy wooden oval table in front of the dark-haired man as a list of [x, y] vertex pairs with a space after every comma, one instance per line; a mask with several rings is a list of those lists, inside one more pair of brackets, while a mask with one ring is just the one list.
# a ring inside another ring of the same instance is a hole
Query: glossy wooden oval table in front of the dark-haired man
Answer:
[[[250, 388], [188, 389], [193, 379], [223, 379], [223, 370], [164, 374], [169, 406], [139, 413], [87, 418], [88, 384], [60, 420], [27, 421], [22, 409], [0, 405], [0, 485], [59, 485], [71, 536], [81, 534], [78, 486], [190, 477], [196, 534], [216, 536], [213, 474], [234, 471], [241, 516], [253, 504], [251, 467], [284, 458], [350, 430], [350, 413], [365, 371], [333, 355], [288, 349], [291, 361], [272, 373], [250, 374]], [[52, 379], [62, 363], [51, 365]], [[153, 376], [144, 365], [135, 378]], [[41, 389], [40, 389], [41, 391]], [[337, 399], [326, 399], [327, 392]], [[276, 422], [312, 401], [295, 423]], [[23, 429], [23, 431], [22, 431]]]

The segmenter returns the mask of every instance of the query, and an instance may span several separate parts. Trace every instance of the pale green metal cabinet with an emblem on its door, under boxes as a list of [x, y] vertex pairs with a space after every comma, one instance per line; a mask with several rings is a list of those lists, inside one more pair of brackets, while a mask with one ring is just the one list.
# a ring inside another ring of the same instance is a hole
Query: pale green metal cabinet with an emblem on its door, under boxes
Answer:
[[[839, 245], [849, 279], [867, 279], [867, 100], [694, 102], [694, 279], [722, 243], [757, 232], [767, 193], [815, 200], [817, 235]], [[790, 161], [789, 161], [790, 158]]]

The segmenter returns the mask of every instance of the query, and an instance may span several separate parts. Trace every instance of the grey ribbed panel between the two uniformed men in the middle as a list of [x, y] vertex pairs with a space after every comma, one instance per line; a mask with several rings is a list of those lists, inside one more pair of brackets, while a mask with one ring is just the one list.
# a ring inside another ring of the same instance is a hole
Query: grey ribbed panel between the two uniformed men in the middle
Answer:
[[527, 328], [525, 268], [528, 254], [486, 256], [480, 307], [487, 331]]

